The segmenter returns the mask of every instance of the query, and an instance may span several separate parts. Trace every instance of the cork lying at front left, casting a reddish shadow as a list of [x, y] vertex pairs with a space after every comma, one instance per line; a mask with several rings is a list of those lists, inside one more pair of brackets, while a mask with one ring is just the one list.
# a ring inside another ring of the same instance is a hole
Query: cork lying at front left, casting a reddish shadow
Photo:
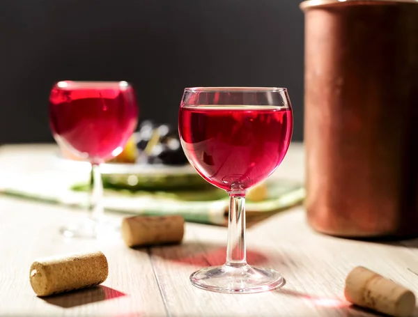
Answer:
[[108, 271], [102, 252], [67, 254], [34, 261], [29, 279], [36, 295], [48, 296], [100, 284]]

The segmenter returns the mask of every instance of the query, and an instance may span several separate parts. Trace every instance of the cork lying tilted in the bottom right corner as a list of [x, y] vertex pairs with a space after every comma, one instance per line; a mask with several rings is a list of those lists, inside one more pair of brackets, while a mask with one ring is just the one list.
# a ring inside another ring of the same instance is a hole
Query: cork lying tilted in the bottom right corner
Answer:
[[408, 317], [415, 309], [414, 293], [362, 266], [348, 274], [344, 295], [353, 304], [390, 316]]

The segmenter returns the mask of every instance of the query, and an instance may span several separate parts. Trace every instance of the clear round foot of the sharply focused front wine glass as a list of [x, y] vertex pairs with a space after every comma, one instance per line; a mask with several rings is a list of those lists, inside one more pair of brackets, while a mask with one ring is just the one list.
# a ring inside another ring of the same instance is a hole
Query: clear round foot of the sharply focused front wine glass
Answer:
[[190, 275], [196, 287], [218, 293], [261, 293], [286, 284], [278, 272], [250, 265], [203, 268]]

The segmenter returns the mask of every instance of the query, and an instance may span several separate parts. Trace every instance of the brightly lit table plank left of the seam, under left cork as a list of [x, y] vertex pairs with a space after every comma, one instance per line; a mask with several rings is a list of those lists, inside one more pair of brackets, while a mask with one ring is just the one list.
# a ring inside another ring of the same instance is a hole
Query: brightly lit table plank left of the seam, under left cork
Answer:
[[[166, 316], [150, 257], [121, 240], [65, 240], [59, 226], [80, 212], [0, 196], [0, 316]], [[36, 297], [29, 267], [38, 257], [100, 249], [109, 262], [103, 286]]]

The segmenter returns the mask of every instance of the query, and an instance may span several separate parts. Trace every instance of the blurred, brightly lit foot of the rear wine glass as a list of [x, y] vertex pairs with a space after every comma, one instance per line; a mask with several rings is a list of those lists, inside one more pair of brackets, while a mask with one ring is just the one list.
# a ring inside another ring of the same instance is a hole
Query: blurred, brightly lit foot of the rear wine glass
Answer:
[[84, 219], [82, 222], [70, 224], [60, 228], [61, 234], [65, 238], [100, 238], [106, 236], [120, 235], [121, 225], [117, 222], [111, 222], [109, 219], [93, 220]]

